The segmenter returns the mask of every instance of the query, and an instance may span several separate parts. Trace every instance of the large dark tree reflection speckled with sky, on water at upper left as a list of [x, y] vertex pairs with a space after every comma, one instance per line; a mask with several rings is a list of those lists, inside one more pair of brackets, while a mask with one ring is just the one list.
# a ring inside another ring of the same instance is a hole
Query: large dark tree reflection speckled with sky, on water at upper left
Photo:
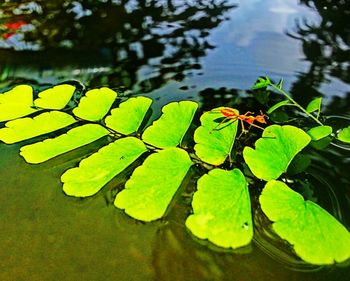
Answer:
[[[95, 74], [91, 86], [137, 84], [143, 92], [200, 69], [199, 58], [214, 47], [210, 31], [231, 8], [226, 0], [17, 1], [2, 7], [6, 22], [28, 23], [17, 32], [30, 49], [49, 50], [48, 60], [62, 48], [90, 53], [87, 61], [96, 52], [108, 57], [110, 71]], [[3, 41], [8, 31], [2, 29]]]

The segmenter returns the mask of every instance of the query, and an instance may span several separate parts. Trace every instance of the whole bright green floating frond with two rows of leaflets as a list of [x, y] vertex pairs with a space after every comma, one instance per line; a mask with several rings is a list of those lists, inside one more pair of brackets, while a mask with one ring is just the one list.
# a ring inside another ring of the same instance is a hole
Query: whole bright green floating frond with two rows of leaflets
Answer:
[[[255, 87], [271, 85], [276, 86], [269, 79], [262, 79]], [[282, 89], [281, 84], [276, 87]], [[38, 93], [34, 99], [30, 86], [19, 85], [0, 94], [0, 121], [7, 121], [0, 129], [0, 140], [12, 144], [69, 127], [55, 138], [21, 147], [20, 154], [26, 162], [39, 164], [109, 135], [113, 141], [62, 175], [63, 191], [76, 197], [96, 194], [141, 155], [149, 154], [114, 201], [129, 216], [146, 222], [164, 216], [194, 161], [212, 165], [213, 169], [198, 180], [193, 213], [186, 226], [198, 238], [219, 247], [236, 249], [251, 243], [253, 221], [248, 182], [238, 168], [222, 168], [234, 153], [237, 120], [217, 128], [217, 120], [222, 117], [220, 108], [202, 114], [201, 125], [194, 133], [194, 154], [182, 148], [182, 140], [192, 124], [197, 103], [165, 105], [160, 118], [137, 137], [135, 133], [150, 109], [150, 98], [138, 96], [115, 105], [117, 93], [104, 87], [85, 92], [77, 107], [67, 110], [75, 90], [72, 85], [61, 84]], [[270, 110], [287, 103], [281, 102]], [[317, 101], [309, 109], [314, 110], [319, 114]], [[320, 127], [307, 134], [294, 126], [268, 126], [255, 149], [244, 148], [243, 157], [256, 179], [267, 182], [260, 203], [273, 222], [274, 231], [303, 260], [332, 264], [350, 257], [348, 230], [320, 206], [305, 202], [278, 181], [313, 136], [331, 133], [323, 124]]]

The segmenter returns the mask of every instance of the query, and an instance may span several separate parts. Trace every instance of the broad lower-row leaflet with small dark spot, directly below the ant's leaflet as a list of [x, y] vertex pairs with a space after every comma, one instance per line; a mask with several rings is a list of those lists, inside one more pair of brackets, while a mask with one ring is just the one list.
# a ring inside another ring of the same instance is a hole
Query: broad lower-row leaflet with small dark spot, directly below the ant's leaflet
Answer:
[[239, 248], [253, 238], [248, 184], [239, 169], [211, 170], [198, 180], [193, 214], [186, 226], [200, 239], [217, 246]]

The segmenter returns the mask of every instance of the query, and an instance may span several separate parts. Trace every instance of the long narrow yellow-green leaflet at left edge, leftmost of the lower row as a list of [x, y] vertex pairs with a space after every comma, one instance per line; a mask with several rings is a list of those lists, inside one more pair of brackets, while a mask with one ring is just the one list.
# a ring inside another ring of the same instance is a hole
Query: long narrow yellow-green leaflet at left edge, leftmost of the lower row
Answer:
[[6, 127], [0, 129], [0, 140], [5, 143], [16, 143], [54, 132], [75, 122], [76, 120], [67, 113], [45, 112], [34, 118], [25, 117], [7, 122]]

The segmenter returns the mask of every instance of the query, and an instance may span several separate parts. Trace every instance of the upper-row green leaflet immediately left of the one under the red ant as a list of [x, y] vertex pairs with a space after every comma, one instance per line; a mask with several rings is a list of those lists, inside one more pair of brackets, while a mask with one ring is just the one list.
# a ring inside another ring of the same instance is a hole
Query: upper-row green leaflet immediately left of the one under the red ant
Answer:
[[179, 145], [197, 108], [198, 104], [193, 101], [171, 102], [165, 105], [162, 116], [145, 130], [142, 139], [159, 148]]

